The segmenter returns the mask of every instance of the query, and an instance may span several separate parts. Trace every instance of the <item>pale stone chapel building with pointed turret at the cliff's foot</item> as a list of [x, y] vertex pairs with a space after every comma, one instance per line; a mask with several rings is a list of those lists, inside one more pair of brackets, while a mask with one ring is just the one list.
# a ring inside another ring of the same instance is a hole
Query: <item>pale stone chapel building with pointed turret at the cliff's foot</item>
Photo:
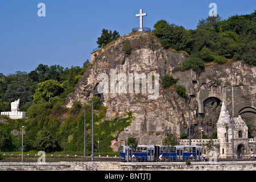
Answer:
[[[234, 128], [234, 155], [235, 158], [249, 157], [251, 154], [256, 154], [256, 138], [248, 138], [248, 127], [239, 115], [233, 118]], [[232, 134], [232, 118], [229, 111], [226, 109], [225, 101], [222, 101], [221, 113], [217, 122], [217, 137], [213, 139], [214, 150], [219, 158], [232, 158], [233, 155], [233, 134]], [[207, 142], [210, 139], [191, 139], [191, 145], [202, 145], [203, 152], [209, 154]], [[179, 144], [187, 145], [189, 140], [179, 140]]]

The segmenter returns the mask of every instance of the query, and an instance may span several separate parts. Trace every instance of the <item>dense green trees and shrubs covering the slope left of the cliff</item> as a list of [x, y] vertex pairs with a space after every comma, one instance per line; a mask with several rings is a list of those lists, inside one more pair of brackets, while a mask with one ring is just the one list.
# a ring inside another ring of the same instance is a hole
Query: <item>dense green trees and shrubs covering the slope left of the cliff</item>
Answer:
[[[21, 126], [25, 126], [24, 150], [46, 152], [83, 151], [84, 123], [86, 124], [86, 155], [91, 154], [91, 121], [90, 105], [75, 102], [71, 108], [64, 105], [67, 94], [73, 92], [86, 68], [63, 68], [59, 65], [39, 64], [31, 71], [16, 72], [3, 76], [0, 80], [0, 110], [10, 111], [10, 103], [20, 99], [21, 111], [27, 111], [27, 119], [12, 120], [5, 115], [0, 117], [0, 151], [20, 151]], [[102, 106], [101, 99], [94, 101], [94, 149], [101, 152], [112, 152], [111, 140], [115, 139], [124, 127], [135, 118], [131, 111], [125, 118], [105, 120], [107, 108]]]

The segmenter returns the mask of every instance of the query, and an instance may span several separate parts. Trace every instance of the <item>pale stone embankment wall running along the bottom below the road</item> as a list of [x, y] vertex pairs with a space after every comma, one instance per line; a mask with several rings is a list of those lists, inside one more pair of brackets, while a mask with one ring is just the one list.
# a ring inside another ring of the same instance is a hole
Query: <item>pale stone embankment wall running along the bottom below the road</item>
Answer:
[[185, 162], [165, 163], [124, 163], [124, 162], [75, 162], [57, 163], [20, 163], [1, 162], [0, 171], [255, 171], [256, 162], [193, 162], [187, 166]]

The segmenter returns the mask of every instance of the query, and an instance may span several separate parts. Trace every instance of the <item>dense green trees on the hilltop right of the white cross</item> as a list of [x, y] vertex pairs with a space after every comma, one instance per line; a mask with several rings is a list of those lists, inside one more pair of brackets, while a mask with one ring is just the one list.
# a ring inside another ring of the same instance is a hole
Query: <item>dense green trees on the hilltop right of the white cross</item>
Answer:
[[186, 51], [190, 57], [181, 69], [204, 68], [202, 61], [224, 64], [227, 59], [243, 60], [256, 66], [256, 11], [249, 15], [233, 15], [227, 19], [209, 16], [201, 19], [195, 30], [159, 20], [153, 34], [165, 49]]

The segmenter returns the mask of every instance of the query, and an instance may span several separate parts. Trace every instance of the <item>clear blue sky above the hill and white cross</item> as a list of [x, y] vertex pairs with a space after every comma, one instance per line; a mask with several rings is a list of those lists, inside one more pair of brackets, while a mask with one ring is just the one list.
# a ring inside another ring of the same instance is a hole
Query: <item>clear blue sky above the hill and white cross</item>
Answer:
[[[37, 15], [41, 2], [45, 17]], [[217, 4], [223, 19], [256, 9], [255, 0], [0, 0], [0, 73], [29, 73], [41, 63], [82, 67], [98, 47], [102, 28], [129, 34], [139, 27], [139, 9], [147, 13], [144, 27], [153, 29], [165, 19], [195, 29], [199, 19], [209, 16], [210, 3]]]

